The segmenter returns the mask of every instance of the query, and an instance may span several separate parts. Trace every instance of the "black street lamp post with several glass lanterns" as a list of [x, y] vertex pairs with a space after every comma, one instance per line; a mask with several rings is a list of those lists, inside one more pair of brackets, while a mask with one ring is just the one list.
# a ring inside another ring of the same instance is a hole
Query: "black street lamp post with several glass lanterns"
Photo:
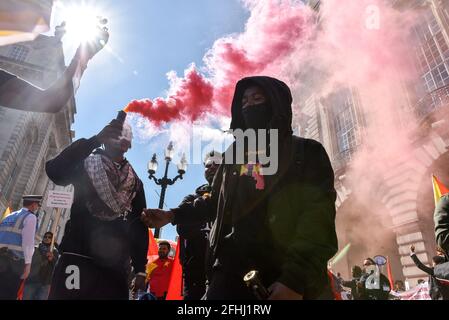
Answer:
[[[181, 161], [178, 163], [178, 175], [173, 179], [168, 178], [168, 166], [173, 159], [174, 149], [173, 143], [170, 141], [167, 148], [165, 149], [165, 173], [161, 179], [157, 179], [154, 174], [157, 171], [158, 163], [156, 159], [156, 154], [153, 154], [153, 157], [148, 162], [148, 178], [158, 185], [161, 186], [161, 196], [159, 198], [159, 209], [164, 208], [164, 199], [165, 199], [165, 191], [168, 186], [173, 185], [178, 179], [182, 179], [183, 174], [186, 173], [187, 170], [187, 160], [185, 154], [182, 155]], [[156, 228], [154, 232], [154, 237], [159, 238], [160, 236], [160, 228]]]

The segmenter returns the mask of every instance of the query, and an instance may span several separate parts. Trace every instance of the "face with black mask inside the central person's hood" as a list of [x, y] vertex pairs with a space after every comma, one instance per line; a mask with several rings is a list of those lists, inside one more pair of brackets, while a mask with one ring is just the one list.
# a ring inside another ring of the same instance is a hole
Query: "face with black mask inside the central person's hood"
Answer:
[[242, 97], [242, 115], [246, 129], [268, 129], [271, 106], [262, 88], [248, 87]]

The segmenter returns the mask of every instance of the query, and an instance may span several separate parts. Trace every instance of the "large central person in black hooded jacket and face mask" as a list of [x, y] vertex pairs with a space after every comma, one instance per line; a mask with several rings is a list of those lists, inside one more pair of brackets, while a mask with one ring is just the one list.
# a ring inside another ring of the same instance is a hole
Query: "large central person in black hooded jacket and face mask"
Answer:
[[[328, 285], [327, 262], [338, 247], [334, 172], [320, 143], [293, 136], [291, 104], [290, 89], [277, 79], [249, 77], [237, 83], [231, 129], [269, 133], [267, 150], [276, 152], [277, 144], [278, 170], [264, 174], [266, 164], [259, 163], [263, 143], [256, 150], [256, 163], [250, 161], [249, 143], [243, 163], [235, 161], [234, 151], [241, 148], [236, 139], [214, 178], [212, 197], [196, 201], [205, 208], [204, 220], [211, 212], [215, 219], [205, 299], [255, 299], [243, 281], [250, 270], [259, 271], [269, 299], [317, 299]], [[152, 227], [190, 219], [158, 209], [142, 215]]]

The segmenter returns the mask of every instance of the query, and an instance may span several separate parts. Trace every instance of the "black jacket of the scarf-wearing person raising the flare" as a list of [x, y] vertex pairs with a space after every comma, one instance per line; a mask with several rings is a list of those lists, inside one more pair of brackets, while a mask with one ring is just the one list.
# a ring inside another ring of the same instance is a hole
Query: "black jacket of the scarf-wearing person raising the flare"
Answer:
[[101, 221], [92, 216], [86, 207], [87, 199], [98, 196], [83, 162], [99, 146], [95, 136], [80, 139], [46, 163], [47, 175], [55, 184], [73, 184], [75, 188], [70, 220], [62, 239], [61, 250], [92, 257], [96, 264], [120, 272], [128, 270], [131, 258], [134, 271], [145, 272], [148, 228], [140, 220], [142, 209], [146, 207], [142, 182], [138, 180], [136, 196], [132, 202], [133, 209], [126, 219]]

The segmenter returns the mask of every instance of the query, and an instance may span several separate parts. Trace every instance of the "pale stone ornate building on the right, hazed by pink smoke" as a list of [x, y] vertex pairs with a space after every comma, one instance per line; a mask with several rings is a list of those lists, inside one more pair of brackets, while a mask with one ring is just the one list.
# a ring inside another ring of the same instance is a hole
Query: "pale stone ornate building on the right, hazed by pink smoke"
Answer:
[[[319, 8], [320, 1], [309, 2]], [[352, 244], [335, 269], [348, 278], [353, 265], [381, 254], [389, 257], [395, 279], [414, 285], [427, 275], [410, 259], [410, 245], [425, 264], [435, 255], [431, 174], [449, 184], [449, 1], [392, 3], [420, 14], [410, 47], [419, 78], [404, 81], [397, 108], [401, 115], [413, 114], [418, 125], [410, 133], [413, 151], [371, 183], [369, 203], [360, 202], [347, 183], [348, 168], [364, 145], [367, 120], [360, 88], [342, 88], [327, 97], [312, 94], [295, 119], [301, 135], [323, 143], [335, 170], [339, 242], [341, 247]]]

